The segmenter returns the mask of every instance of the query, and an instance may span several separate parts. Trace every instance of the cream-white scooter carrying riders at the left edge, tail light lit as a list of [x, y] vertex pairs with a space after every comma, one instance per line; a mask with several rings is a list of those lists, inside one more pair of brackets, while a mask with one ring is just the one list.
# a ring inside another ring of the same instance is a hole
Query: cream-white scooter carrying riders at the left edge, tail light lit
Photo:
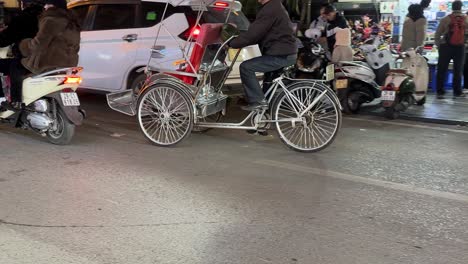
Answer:
[[81, 70], [63, 68], [25, 79], [21, 106], [9, 103], [9, 78], [2, 76], [5, 99], [0, 106], [0, 122], [33, 130], [47, 136], [53, 144], [68, 144], [75, 133], [75, 126], [81, 125], [86, 115], [79, 108], [80, 101], [75, 92], [81, 83], [78, 76]]

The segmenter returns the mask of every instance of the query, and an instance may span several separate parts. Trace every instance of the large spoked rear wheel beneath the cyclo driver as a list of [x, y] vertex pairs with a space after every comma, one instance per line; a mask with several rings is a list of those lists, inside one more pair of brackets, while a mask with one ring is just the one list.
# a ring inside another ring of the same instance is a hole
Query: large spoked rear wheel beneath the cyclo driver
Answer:
[[306, 110], [323, 91], [323, 88], [309, 84], [293, 87], [290, 90], [292, 98], [281, 93], [273, 108], [273, 116], [279, 120], [276, 128], [288, 147], [300, 152], [316, 152], [335, 139], [341, 126], [341, 111], [329, 91], [302, 116], [301, 121], [281, 121], [297, 118], [297, 112]]

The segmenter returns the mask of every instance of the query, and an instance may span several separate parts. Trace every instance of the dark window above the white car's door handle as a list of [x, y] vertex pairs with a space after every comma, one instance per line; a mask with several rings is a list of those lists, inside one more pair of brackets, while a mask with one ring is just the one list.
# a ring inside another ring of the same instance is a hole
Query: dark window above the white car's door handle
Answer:
[[136, 5], [99, 5], [93, 30], [135, 28]]

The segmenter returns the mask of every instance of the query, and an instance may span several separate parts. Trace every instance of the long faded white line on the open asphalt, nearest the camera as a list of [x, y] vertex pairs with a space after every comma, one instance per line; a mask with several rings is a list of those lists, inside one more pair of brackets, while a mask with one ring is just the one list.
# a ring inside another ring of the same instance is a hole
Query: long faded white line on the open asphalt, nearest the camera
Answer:
[[419, 188], [419, 187], [406, 185], [402, 183], [370, 179], [370, 178], [355, 176], [355, 175], [351, 175], [347, 173], [317, 169], [317, 168], [284, 163], [284, 162], [274, 161], [274, 160], [258, 160], [258, 161], [254, 161], [254, 163], [267, 165], [267, 166], [280, 168], [280, 169], [288, 169], [292, 171], [305, 172], [308, 174], [314, 174], [314, 175], [331, 177], [331, 178], [347, 180], [347, 181], [352, 181], [352, 182], [364, 183], [364, 184], [384, 187], [388, 189], [393, 189], [397, 191], [405, 191], [405, 192], [410, 192], [410, 193], [423, 194], [423, 195], [428, 195], [432, 197], [444, 198], [444, 199], [454, 200], [458, 202], [468, 203], [468, 195], [463, 195], [463, 194], [428, 190], [428, 189]]

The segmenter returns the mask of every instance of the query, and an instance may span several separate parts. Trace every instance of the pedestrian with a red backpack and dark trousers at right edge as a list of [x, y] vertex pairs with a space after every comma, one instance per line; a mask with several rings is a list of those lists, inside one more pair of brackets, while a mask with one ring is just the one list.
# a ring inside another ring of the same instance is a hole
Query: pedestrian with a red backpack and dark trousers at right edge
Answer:
[[452, 14], [442, 18], [435, 33], [434, 42], [439, 47], [437, 63], [437, 98], [444, 99], [444, 83], [450, 60], [453, 60], [453, 96], [465, 97], [461, 89], [461, 75], [465, 58], [465, 30], [468, 20], [461, 12], [462, 2], [452, 3]]

